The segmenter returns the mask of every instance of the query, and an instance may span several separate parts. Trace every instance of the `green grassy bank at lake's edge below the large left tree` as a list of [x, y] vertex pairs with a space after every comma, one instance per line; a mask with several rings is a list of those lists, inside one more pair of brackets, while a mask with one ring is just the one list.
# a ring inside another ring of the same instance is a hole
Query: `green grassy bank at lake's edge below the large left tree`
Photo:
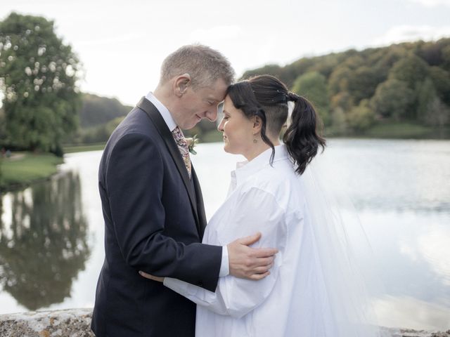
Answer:
[[63, 164], [63, 159], [53, 154], [13, 152], [11, 158], [1, 159], [0, 190], [11, 190], [48, 178], [58, 171], [58, 164]]

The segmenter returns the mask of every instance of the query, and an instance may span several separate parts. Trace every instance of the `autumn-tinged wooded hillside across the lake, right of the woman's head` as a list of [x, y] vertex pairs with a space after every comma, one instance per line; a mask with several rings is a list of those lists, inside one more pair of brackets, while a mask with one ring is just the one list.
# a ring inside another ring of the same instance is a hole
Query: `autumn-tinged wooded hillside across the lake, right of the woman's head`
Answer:
[[450, 124], [450, 39], [301, 58], [274, 74], [316, 106], [328, 134], [361, 134], [375, 124]]

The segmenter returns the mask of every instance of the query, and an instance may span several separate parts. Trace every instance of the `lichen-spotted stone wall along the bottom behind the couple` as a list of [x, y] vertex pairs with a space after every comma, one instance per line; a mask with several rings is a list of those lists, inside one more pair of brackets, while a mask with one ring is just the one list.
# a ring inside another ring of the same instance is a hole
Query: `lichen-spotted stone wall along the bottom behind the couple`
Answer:
[[[92, 309], [25, 312], [0, 315], [1, 337], [93, 337]], [[361, 336], [364, 337], [364, 336]], [[394, 337], [450, 337], [446, 332], [402, 329]]]

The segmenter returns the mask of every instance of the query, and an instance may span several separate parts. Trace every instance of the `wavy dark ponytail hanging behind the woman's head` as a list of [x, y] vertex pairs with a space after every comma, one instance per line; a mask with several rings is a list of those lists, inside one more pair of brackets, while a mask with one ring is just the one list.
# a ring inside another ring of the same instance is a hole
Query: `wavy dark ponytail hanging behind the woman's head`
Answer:
[[293, 163], [295, 172], [302, 174], [307, 165], [316, 156], [319, 146], [322, 151], [326, 140], [317, 134], [319, 117], [306, 98], [295, 93], [287, 93], [288, 100], [295, 103], [290, 126], [283, 136], [283, 142]]

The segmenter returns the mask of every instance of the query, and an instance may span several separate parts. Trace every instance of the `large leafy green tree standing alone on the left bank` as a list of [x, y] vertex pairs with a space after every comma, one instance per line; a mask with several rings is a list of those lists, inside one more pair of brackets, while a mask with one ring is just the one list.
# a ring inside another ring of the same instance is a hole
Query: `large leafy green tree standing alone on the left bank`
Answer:
[[7, 143], [62, 154], [77, 128], [80, 65], [56, 36], [53, 21], [11, 13], [0, 22], [0, 86]]

